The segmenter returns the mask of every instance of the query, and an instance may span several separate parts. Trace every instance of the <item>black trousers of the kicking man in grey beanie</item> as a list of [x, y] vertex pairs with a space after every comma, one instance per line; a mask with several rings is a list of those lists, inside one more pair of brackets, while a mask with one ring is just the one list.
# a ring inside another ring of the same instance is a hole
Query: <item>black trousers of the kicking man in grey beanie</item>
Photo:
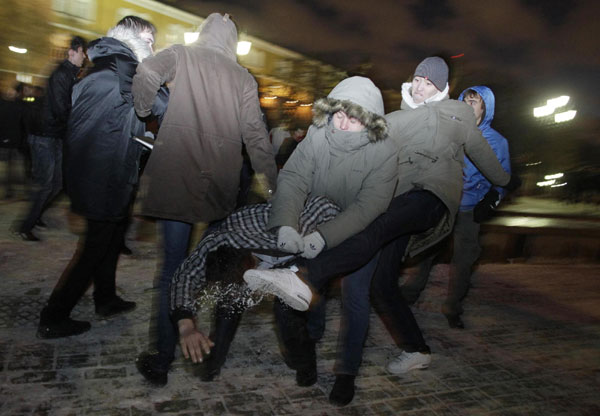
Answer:
[[[382, 257], [371, 283], [373, 306], [401, 348], [407, 351], [428, 351], [412, 312], [402, 299], [398, 276], [410, 236], [438, 224], [445, 211], [445, 205], [434, 194], [421, 190], [407, 192], [394, 198], [387, 211], [363, 231], [337, 247], [322, 252], [315, 259], [301, 262], [300, 266], [306, 267], [307, 279], [315, 291], [320, 292], [332, 278], [366, 265], [387, 245], [381, 253]], [[284, 342], [286, 339], [294, 340], [294, 332], [307, 332], [306, 314], [289, 309], [287, 311], [284, 317], [277, 319]], [[403, 334], [402, 328], [405, 325], [408, 328], [406, 332], [410, 332], [408, 334]]]

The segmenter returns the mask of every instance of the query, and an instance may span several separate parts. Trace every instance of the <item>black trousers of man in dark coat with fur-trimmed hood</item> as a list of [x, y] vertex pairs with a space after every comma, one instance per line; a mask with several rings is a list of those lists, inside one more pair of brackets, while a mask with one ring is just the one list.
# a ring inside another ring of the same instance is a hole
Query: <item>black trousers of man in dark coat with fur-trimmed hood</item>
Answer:
[[87, 219], [86, 233], [81, 237], [79, 248], [42, 310], [42, 324], [68, 318], [92, 282], [96, 307], [115, 298], [117, 261], [124, 232], [123, 222]]

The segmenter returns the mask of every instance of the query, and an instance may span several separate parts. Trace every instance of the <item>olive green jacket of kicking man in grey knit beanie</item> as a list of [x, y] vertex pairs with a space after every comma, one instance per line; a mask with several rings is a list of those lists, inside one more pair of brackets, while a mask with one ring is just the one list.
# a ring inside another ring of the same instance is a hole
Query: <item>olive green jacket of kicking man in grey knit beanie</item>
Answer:
[[510, 180], [494, 151], [477, 128], [473, 109], [445, 99], [386, 115], [389, 136], [398, 143], [398, 186], [395, 196], [413, 189], [432, 192], [448, 211], [434, 228], [411, 238], [406, 254], [413, 256], [452, 231], [460, 205], [465, 153], [494, 185]]

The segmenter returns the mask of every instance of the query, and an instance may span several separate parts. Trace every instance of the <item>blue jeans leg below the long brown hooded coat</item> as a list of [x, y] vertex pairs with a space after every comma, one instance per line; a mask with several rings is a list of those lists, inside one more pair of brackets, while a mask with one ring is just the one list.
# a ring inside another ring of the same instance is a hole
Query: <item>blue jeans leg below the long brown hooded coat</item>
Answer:
[[161, 220], [163, 236], [163, 266], [158, 282], [158, 316], [156, 317], [156, 350], [159, 366], [168, 369], [175, 357], [177, 328], [171, 321], [171, 280], [175, 271], [187, 257], [192, 224]]

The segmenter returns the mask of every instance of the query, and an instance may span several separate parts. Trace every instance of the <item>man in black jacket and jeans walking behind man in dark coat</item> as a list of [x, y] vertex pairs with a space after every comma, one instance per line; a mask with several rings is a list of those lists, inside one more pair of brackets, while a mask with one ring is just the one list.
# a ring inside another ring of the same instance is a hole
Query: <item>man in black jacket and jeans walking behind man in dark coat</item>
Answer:
[[34, 190], [29, 211], [19, 228], [19, 235], [26, 241], [39, 241], [33, 227], [43, 224], [43, 212], [63, 187], [63, 139], [71, 111], [71, 91], [85, 60], [85, 48], [83, 38], [71, 39], [67, 59], [48, 79], [41, 123], [27, 137]]

